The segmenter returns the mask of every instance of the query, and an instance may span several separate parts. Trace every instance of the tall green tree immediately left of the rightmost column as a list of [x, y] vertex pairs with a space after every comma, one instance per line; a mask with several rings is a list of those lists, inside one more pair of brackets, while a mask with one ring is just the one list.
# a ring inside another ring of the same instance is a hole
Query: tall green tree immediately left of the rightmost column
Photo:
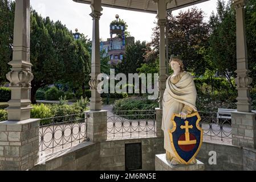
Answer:
[[208, 55], [214, 67], [230, 81], [230, 85], [235, 89], [231, 82], [231, 77], [235, 76], [237, 69], [236, 59], [236, 25], [235, 10], [229, 4], [218, 0], [217, 14], [210, 16], [210, 27], [212, 34], [209, 38]]

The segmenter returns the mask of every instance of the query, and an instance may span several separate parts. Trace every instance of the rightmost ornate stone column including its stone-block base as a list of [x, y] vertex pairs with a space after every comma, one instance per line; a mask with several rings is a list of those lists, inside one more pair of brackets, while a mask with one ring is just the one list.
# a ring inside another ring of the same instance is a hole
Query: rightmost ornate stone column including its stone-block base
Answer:
[[255, 113], [251, 113], [250, 89], [252, 78], [248, 76], [247, 46], [245, 35], [246, 0], [234, 0], [237, 22], [237, 111], [231, 113], [232, 144], [242, 147], [256, 148]]

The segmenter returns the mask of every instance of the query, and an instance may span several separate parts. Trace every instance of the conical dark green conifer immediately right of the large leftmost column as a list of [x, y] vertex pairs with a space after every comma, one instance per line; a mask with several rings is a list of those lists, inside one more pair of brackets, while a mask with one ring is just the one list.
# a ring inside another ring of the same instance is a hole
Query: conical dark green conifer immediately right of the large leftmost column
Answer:
[[44, 26], [45, 20], [47, 22], [47, 19], [43, 19], [36, 11], [32, 11], [30, 35], [30, 61], [33, 65], [32, 73], [34, 74], [34, 79], [31, 81], [32, 103], [36, 102], [36, 90], [42, 86], [53, 84], [64, 74], [63, 59], [58, 52], [59, 49], [54, 47], [54, 44], [58, 44], [58, 42], [52, 40], [47, 29], [49, 24], [46, 23], [47, 27]]

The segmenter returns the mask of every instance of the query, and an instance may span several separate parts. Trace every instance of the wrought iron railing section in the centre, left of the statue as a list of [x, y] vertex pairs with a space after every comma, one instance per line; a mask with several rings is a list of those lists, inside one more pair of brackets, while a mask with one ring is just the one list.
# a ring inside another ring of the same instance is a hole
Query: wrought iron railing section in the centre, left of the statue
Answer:
[[111, 111], [107, 117], [108, 138], [154, 137], [155, 110]]

